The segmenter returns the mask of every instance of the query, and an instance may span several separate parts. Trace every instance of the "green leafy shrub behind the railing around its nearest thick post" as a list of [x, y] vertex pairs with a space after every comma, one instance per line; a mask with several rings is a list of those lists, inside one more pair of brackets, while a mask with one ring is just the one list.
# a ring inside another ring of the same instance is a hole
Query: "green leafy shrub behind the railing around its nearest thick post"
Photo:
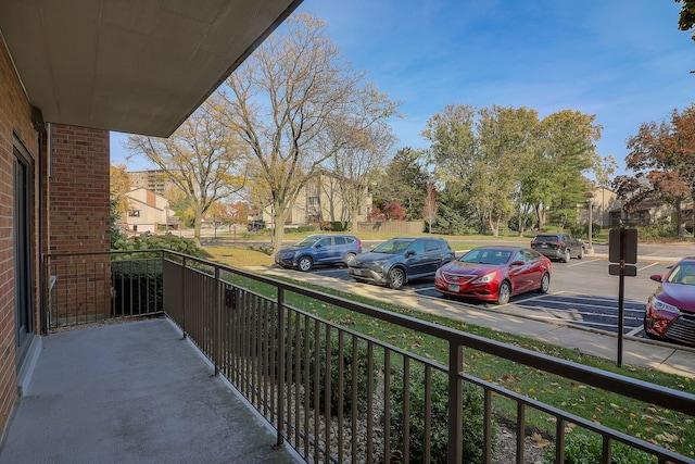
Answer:
[[[425, 368], [420, 365], [410, 367], [409, 388], [409, 459], [410, 462], [425, 460]], [[431, 430], [430, 455], [432, 463], [446, 463], [448, 447], [448, 377], [440, 371], [432, 371], [431, 379]], [[395, 450], [403, 450], [403, 375], [394, 373], [391, 381], [391, 430]], [[468, 383], [464, 384], [464, 424], [463, 424], [463, 461], [466, 463], [483, 462], [484, 411], [482, 389]], [[493, 435], [495, 431], [493, 430]], [[494, 442], [494, 439], [493, 439]]]

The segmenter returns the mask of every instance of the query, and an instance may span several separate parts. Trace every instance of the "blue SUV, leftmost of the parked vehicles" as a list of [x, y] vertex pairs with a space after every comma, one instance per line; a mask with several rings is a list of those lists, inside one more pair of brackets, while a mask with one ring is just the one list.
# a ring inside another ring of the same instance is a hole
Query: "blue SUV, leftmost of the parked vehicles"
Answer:
[[344, 264], [362, 253], [362, 241], [352, 235], [309, 235], [290, 248], [275, 254], [275, 262], [282, 267], [308, 271], [315, 265]]

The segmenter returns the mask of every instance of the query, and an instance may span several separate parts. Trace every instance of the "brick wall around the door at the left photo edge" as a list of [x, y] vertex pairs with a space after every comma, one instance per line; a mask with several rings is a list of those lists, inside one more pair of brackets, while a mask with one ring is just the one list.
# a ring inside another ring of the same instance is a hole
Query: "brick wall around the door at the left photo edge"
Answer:
[[[31, 106], [24, 93], [14, 66], [0, 39], [0, 431], [3, 431], [16, 399], [15, 319], [14, 319], [14, 252], [13, 252], [13, 146], [17, 138], [34, 159], [35, 188], [38, 179], [36, 156], [38, 134], [31, 123]], [[36, 197], [34, 202], [36, 205]], [[38, 276], [38, 240], [34, 209], [31, 231], [34, 280]], [[35, 285], [36, 296], [36, 285]]]

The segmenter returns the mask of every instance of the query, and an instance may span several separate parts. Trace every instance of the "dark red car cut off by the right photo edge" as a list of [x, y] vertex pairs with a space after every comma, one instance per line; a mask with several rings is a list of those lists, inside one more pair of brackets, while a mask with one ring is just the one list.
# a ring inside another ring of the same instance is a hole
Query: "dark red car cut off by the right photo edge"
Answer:
[[695, 256], [682, 259], [665, 276], [649, 278], [661, 285], [647, 300], [646, 335], [695, 346]]

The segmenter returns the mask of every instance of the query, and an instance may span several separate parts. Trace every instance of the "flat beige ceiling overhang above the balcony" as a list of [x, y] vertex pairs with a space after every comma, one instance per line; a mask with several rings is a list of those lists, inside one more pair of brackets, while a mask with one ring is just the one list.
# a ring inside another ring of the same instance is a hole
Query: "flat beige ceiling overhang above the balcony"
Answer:
[[168, 137], [302, 0], [0, 0], [45, 122]]

